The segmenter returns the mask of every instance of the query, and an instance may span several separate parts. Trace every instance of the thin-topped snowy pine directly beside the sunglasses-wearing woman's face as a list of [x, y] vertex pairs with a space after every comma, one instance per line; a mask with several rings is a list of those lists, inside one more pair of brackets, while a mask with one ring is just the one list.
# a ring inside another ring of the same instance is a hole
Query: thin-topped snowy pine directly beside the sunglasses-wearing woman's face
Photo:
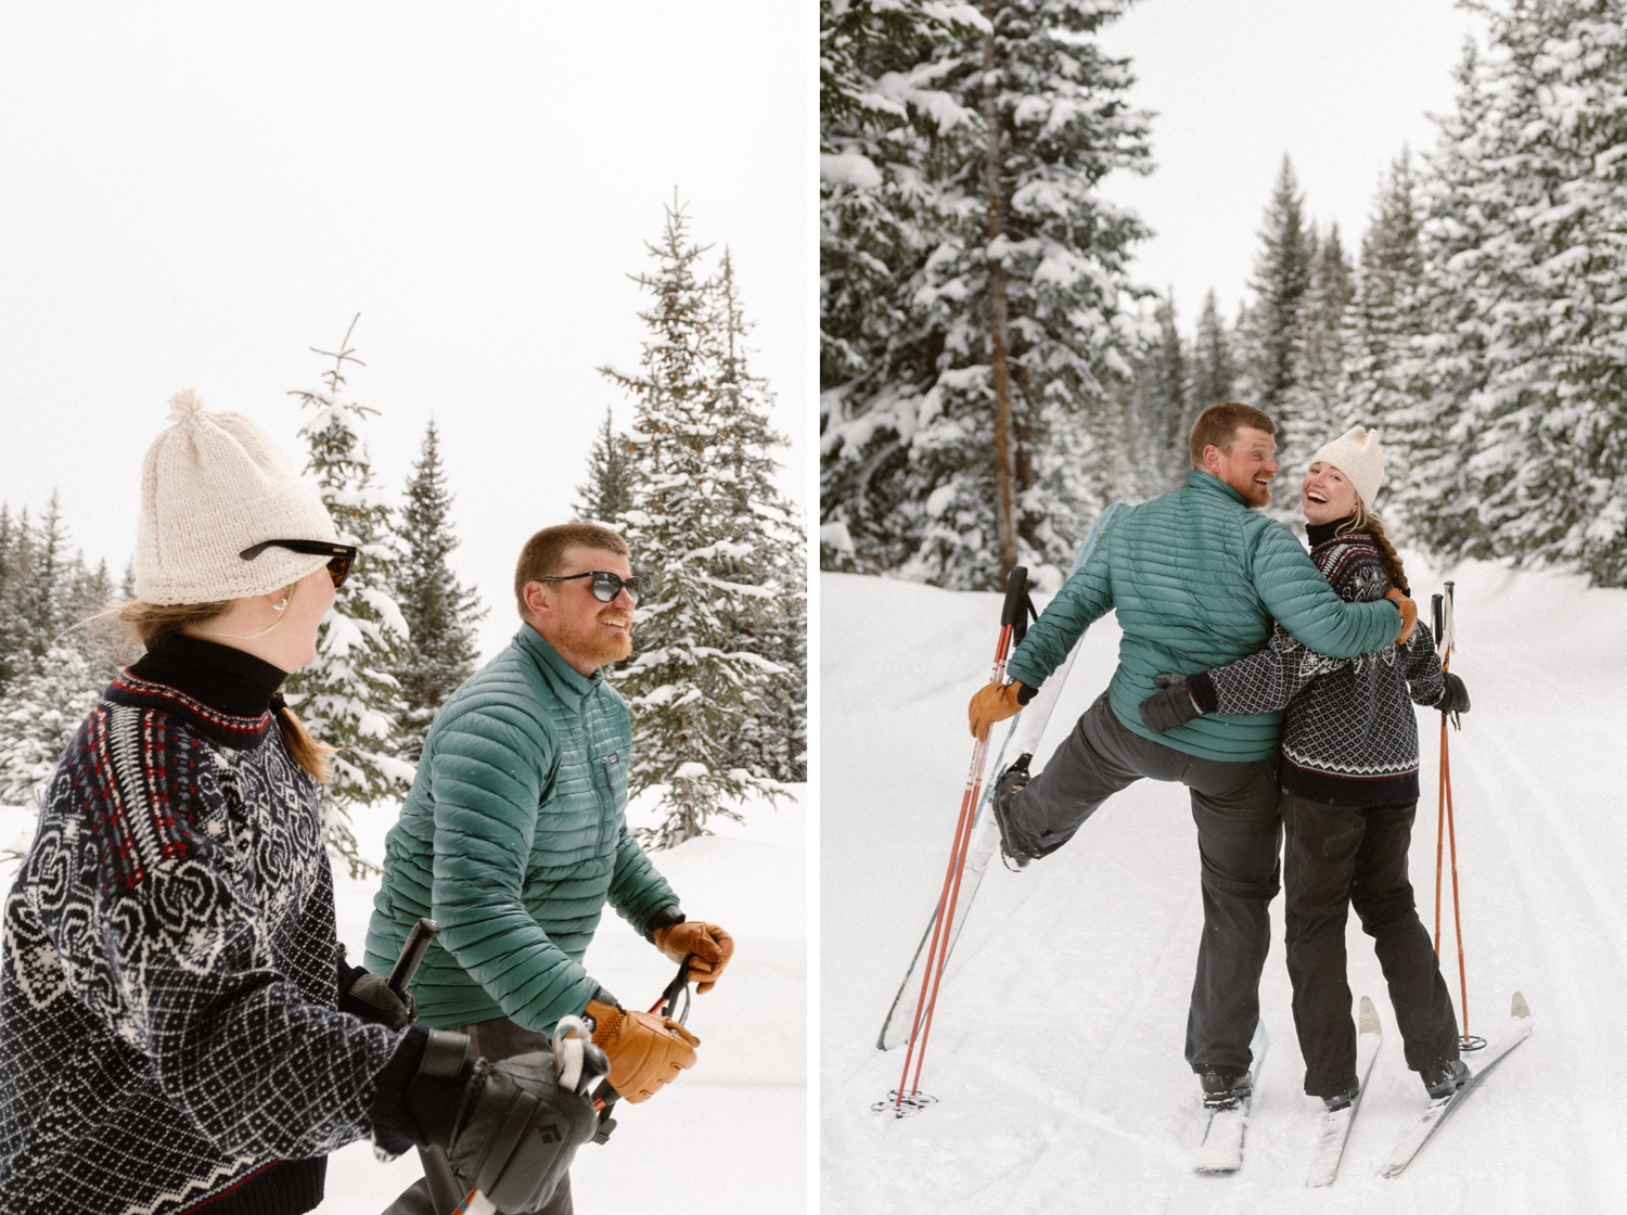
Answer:
[[340, 400], [347, 368], [364, 366], [350, 345], [356, 320], [360, 314], [337, 351], [312, 346], [314, 353], [334, 361], [322, 372], [321, 387], [290, 394], [311, 410], [299, 431], [309, 451], [306, 472], [316, 477], [340, 542], [361, 551], [322, 618], [316, 662], [290, 675], [286, 693], [311, 734], [338, 748], [332, 761], [334, 781], [322, 790], [327, 841], [351, 875], [361, 877], [376, 865], [361, 856], [351, 815], [379, 799], [403, 794], [413, 768], [395, 758], [403, 703], [392, 672], [400, 670], [408, 639], [407, 621], [390, 594], [400, 547], [389, 498], [374, 481], [363, 438], [368, 415], [377, 410]]

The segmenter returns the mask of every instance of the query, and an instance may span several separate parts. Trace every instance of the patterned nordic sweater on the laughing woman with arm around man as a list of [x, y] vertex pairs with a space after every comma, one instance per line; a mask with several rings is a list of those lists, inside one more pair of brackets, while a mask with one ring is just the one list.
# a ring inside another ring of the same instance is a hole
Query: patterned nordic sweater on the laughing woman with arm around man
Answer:
[[[1346, 600], [1383, 599], [1389, 589], [1378, 547], [1365, 532], [1318, 543], [1311, 560]], [[1204, 712], [1285, 709], [1282, 787], [1354, 807], [1417, 800], [1412, 703], [1435, 704], [1445, 690], [1435, 639], [1422, 623], [1406, 646], [1354, 659], [1305, 649], [1277, 625], [1266, 649], [1193, 675], [1186, 685]]]

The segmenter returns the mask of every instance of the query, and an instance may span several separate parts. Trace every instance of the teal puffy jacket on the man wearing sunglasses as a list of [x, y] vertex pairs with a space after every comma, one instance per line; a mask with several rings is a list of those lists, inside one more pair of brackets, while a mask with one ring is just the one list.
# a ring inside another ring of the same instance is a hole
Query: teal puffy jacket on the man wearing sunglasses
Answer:
[[599, 986], [581, 961], [604, 904], [639, 932], [677, 904], [626, 830], [631, 747], [622, 696], [530, 625], [436, 714], [366, 952], [386, 974], [420, 916], [441, 924], [413, 981], [425, 1025], [548, 1033]]

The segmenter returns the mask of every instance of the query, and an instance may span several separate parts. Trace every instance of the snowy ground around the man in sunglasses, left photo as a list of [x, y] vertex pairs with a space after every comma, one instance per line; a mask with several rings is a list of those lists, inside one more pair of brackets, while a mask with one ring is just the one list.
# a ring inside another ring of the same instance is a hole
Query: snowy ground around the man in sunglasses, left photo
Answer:
[[[688, 1026], [700, 1062], [656, 1098], [626, 1106], [605, 1145], [584, 1147], [571, 1169], [578, 1215], [761, 1215], [807, 1207], [807, 812], [799, 800], [774, 810], [752, 805], [745, 823], [657, 852], [696, 919], [735, 938], [727, 974], [696, 995]], [[641, 821], [641, 808], [630, 808]], [[394, 813], [361, 817], [364, 852], [384, 854]], [[0, 807], [0, 849], [28, 846], [33, 815]], [[0, 891], [15, 864], [0, 865]], [[361, 956], [376, 882], [335, 873], [338, 937]], [[672, 965], [607, 911], [587, 969], [628, 1005], [649, 1007]], [[417, 1155], [389, 1165], [368, 1143], [329, 1158], [322, 1215], [382, 1210], [420, 1176]]]

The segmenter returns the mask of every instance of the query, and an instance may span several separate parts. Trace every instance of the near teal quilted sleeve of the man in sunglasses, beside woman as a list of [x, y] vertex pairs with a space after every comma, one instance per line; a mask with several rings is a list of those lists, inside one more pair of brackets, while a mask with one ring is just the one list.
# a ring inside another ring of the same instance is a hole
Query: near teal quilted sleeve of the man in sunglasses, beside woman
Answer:
[[526, 909], [537, 805], [558, 755], [524, 709], [486, 703], [439, 730], [431, 760], [439, 945], [522, 1026], [587, 1007], [599, 984]]

